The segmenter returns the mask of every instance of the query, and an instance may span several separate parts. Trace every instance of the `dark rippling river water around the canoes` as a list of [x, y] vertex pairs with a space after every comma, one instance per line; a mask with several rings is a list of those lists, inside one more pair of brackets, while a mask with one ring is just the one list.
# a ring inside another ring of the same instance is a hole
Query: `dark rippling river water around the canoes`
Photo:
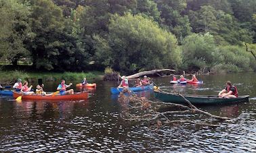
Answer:
[[[127, 106], [110, 94], [116, 82], [98, 81], [88, 100], [75, 102], [17, 103], [12, 97], [1, 96], [0, 152], [256, 152], [256, 73], [199, 78], [205, 82], [202, 86], [171, 86], [169, 78], [154, 81], [167, 91], [214, 95], [230, 80], [240, 95], [250, 94], [250, 102], [201, 106], [232, 118], [215, 129], [178, 125], [152, 132], [148, 126], [120, 118]], [[46, 82], [45, 89], [54, 91], [56, 84]], [[141, 94], [150, 96], [150, 92]]]

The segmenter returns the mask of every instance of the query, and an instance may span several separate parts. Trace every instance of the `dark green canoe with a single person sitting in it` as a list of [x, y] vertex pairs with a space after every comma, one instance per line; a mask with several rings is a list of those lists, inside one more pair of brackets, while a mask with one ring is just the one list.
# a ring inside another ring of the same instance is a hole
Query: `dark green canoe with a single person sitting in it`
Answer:
[[[163, 102], [186, 103], [182, 96], [177, 94], [167, 94], [154, 91], [154, 96]], [[239, 96], [238, 98], [219, 98], [218, 96], [202, 96], [202, 95], [183, 95], [192, 104], [230, 104], [237, 102], [248, 102], [249, 96]]]

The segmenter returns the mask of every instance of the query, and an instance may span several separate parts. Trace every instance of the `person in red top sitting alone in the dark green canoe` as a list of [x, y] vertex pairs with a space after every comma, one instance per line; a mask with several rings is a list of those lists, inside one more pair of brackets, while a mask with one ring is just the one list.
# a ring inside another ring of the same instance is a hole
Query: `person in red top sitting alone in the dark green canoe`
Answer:
[[238, 90], [236, 86], [232, 86], [231, 82], [226, 82], [226, 88], [219, 92], [219, 97], [222, 98], [237, 98]]

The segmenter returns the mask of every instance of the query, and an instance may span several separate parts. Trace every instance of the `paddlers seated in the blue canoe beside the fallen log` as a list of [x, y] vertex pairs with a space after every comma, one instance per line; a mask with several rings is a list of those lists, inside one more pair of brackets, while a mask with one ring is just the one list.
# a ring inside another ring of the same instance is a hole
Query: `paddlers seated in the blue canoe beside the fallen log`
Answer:
[[[122, 77], [119, 76], [119, 78], [121, 78], [122, 81], [117, 88], [129, 88], [128, 78], [125, 76], [122, 76]], [[150, 80], [145, 75], [142, 80], [140, 78], [136, 80], [135, 87], [148, 86], [149, 84], [150, 84]]]

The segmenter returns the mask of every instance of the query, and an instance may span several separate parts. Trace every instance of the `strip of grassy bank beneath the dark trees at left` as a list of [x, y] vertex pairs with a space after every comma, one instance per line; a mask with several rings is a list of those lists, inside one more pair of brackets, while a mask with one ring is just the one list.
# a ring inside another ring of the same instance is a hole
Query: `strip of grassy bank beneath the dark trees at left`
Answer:
[[44, 81], [58, 81], [58, 80], [83, 80], [86, 77], [88, 80], [102, 79], [103, 72], [25, 72], [25, 71], [0, 71], [0, 83], [5, 84], [15, 82], [18, 78], [27, 80], [28, 82], [37, 82], [38, 79]]

